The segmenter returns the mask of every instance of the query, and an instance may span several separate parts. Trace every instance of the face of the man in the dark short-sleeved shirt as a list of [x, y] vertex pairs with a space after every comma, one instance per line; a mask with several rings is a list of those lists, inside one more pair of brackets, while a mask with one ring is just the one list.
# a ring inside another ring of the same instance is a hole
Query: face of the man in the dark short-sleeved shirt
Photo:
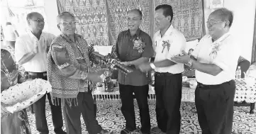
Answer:
[[138, 11], [130, 11], [127, 13], [126, 21], [130, 30], [138, 30], [141, 23], [140, 13]]

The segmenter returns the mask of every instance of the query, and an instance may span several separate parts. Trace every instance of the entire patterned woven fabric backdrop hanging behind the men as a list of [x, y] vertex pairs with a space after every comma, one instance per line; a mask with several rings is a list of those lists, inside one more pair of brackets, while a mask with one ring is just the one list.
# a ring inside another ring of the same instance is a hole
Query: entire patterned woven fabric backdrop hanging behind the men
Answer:
[[153, 15], [160, 4], [172, 5], [173, 26], [187, 41], [203, 36], [202, 0], [57, 0], [59, 12], [74, 13], [79, 23], [77, 33], [95, 45], [116, 44], [118, 33], [127, 30], [127, 11], [135, 8], [143, 12], [140, 28], [152, 36], [157, 31]]

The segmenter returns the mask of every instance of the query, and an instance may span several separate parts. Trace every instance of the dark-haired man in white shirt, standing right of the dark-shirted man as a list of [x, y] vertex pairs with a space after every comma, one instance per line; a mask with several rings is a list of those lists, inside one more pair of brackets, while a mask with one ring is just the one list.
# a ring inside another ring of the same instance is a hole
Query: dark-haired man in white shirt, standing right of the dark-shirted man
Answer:
[[[164, 4], [155, 8], [155, 22], [160, 29], [153, 38], [155, 61], [140, 65], [139, 68], [143, 72], [155, 69], [155, 111], [158, 128], [164, 133], [178, 134], [184, 64], [173, 62], [171, 57], [182, 54], [186, 39], [179, 30], [173, 28], [172, 18], [172, 6]], [[158, 128], [153, 128], [152, 131], [157, 131]]]

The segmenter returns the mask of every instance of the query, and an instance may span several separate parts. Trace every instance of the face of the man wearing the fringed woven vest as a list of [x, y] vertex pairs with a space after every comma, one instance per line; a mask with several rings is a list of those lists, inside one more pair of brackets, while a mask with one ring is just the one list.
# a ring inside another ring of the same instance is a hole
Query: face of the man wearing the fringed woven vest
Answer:
[[74, 18], [70, 15], [62, 16], [60, 23], [58, 24], [60, 31], [64, 35], [74, 35], [74, 31], [76, 30]]

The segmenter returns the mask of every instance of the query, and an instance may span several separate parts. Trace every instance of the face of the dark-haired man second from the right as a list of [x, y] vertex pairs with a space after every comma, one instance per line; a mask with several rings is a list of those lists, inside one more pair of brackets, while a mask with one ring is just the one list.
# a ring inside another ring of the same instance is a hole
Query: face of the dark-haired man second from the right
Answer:
[[163, 9], [158, 9], [155, 11], [155, 25], [159, 30], [163, 30], [167, 28], [171, 24], [171, 16], [164, 16], [164, 10]]

